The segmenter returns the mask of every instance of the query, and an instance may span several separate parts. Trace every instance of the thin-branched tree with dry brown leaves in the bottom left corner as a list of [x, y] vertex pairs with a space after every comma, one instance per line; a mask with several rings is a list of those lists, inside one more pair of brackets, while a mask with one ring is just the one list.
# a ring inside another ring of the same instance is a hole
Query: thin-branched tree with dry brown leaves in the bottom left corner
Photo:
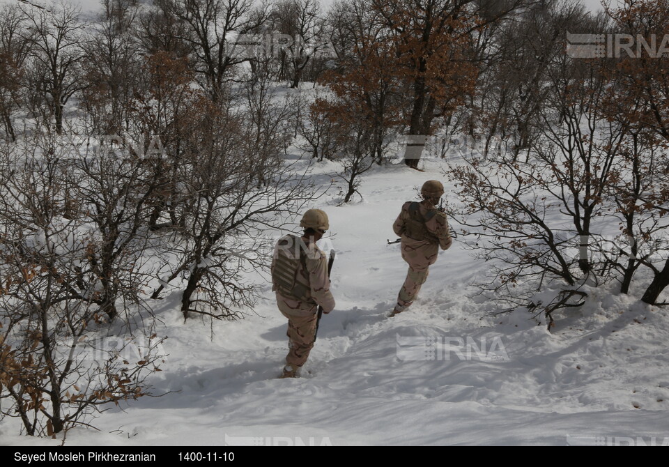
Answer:
[[145, 316], [146, 340], [132, 358], [117, 356], [125, 339], [115, 348], [100, 340], [107, 332], [90, 267], [100, 238], [85, 211], [68, 207], [70, 158], [54, 139], [25, 143], [1, 154], [10, 176], [0, 190], [0, 397], [10, 404], [0, 410], [21, 418], [26, 434], [52, 436], [88, 426], [103, 404], [145, 395], [160, 339]]

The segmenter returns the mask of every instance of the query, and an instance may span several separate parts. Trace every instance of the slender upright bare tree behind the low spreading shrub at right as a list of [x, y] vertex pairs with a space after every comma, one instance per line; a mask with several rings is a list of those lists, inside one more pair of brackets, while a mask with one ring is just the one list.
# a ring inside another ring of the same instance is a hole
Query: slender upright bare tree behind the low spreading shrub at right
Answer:
[[549, 104], [541, 111], [536, 155], [551, 171], [544, 187], [574, 222], [580, 237], [578, 266], [587, 273], [592, 224], [605, 207], [627, 125], [608, 121], [603, 101], [612, 83], [596, 65], [563, 59], [547, 78]]

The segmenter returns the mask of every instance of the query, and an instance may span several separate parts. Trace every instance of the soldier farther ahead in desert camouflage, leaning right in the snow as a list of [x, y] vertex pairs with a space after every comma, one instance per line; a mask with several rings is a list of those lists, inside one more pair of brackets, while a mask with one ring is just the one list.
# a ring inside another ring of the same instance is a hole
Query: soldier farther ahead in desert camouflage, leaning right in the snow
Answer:
[[423, 201], [404, 203], [392, 226], [402, 238], [402, 258], [409, 264], [409, 270], [390, 316], [413, 303], [427, 279], [430, 265], [437, 261], [439, 247], [448, 250], [453, 243], [446, 215], [435, 207], [443, 194], [444, 186], [439, 181], [426, 181], [421, 189]]

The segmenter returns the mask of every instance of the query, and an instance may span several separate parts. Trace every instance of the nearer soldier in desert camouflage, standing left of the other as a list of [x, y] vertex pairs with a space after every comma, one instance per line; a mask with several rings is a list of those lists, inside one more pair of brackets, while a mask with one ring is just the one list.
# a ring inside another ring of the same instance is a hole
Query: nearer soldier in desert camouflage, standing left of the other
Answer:
[[318, 305], [326, 314], [334, 309], [328, 260], [316, 246], [330, 228], [328, 215], [309, 209], [300, 227], [304, 234], [279, 239], [272, 257], [272, 290], [277, 294], [279, 311], [288, 318], [289, 353], [282, 378], [295, 378], [314, 347]]

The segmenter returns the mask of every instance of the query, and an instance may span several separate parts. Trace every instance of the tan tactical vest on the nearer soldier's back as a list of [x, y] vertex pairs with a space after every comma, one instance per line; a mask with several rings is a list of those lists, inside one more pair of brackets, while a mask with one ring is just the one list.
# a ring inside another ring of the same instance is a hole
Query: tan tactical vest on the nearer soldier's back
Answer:
[[313, 301], [311, 288], [300, 274], [300, 266], [302, 270], [307, 270], [307, 254], [304, 242], [298, 236], [287, 235], [279, 240], [272, 283], [277, 286], [277, 291], [282, 296]]

